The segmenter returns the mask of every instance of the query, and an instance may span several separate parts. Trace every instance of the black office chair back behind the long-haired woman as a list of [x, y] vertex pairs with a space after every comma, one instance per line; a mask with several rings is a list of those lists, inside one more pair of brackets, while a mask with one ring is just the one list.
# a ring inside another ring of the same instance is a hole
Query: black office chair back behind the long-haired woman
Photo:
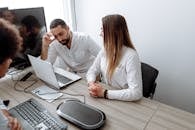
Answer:
[[141, 63], [141, 71], [142, 71], [142, 84], [143, 84], [143, 96], [146, 98], [153, 98], [154, 92], [156, 89], [156, 78], [158, 76], [159, 71], [146, 64]]

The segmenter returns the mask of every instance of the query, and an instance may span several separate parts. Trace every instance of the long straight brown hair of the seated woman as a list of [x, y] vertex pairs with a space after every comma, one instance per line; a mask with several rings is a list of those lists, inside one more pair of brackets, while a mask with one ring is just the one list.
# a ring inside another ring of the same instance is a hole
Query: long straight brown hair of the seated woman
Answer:
[[107, 76], [111, 79], [115, 68], [119, 64], [123, 45], [135, 49], [125, 18], [121, 15], [107, 15], [102, 18], [103, 38], [106, 58], [108, 61]]

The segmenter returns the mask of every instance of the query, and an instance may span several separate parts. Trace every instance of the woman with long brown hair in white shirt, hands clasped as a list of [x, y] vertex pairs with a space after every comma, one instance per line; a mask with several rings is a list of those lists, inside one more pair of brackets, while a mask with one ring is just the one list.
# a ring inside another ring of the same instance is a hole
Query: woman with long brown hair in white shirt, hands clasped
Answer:
[[[104, 49], [87, 72], [89, 93], [107, 99], [139, 100], [142, 97], [141, 65], [126, 20], [118, 14], [107, 15], [102, 18], [102, 25]], [[96, 82], [98, 75], [113, 89], [107, 90]]]

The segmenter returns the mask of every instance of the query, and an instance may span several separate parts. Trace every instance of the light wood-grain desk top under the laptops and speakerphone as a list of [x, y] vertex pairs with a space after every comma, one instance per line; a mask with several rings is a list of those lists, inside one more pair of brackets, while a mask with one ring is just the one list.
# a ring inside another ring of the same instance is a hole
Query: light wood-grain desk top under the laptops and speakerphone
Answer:
[[[17, 88], [25, 88], [32, 81], [19, 82], [20, 86]], [[33, 90], [44, 83], [38, 81], [28, 90]], [[35, 98], [40, 101], [54, 116], [56, 114], [56, 107], [63, 100], [56, 100], [48, 103], [29, 93], [15, 91], [14, 82], [7, 78], [0, 80], [0, 97], [2, 99], [10, 99], [9, 108], [21, 103], [29, 98]], [[162, 104], [155, 100], [143, 98], [137, 102], [123, 102], [116, 100], [106, 100], [101, 98], [90, 97], [87, 90], [87, 83], [85, 80], [80, 80], [71, 84], [67, 88], [62, 89], [63, 92], [83, 94], [86, 97], [86, 103], [97, 107], [106, 114], [106, 124], [103, 130], [195, 130], [195, 115], [171, 106]], [[81, 101], [83, 97], [76, 97]], [[68, 130], [77, 130], [76, 126], [63, 120], [68, 125]]]

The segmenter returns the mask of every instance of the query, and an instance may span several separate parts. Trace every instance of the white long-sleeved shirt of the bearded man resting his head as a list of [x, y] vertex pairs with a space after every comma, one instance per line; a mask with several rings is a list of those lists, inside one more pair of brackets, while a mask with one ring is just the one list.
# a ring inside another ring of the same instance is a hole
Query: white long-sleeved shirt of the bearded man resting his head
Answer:
[[90, 36], [73, 32], [71, 48], [54, 40], [49, 46], [47, 60], [53, 64], [59, 56], [70, 71], [86, 73], [99, 51], [100, 47]]

